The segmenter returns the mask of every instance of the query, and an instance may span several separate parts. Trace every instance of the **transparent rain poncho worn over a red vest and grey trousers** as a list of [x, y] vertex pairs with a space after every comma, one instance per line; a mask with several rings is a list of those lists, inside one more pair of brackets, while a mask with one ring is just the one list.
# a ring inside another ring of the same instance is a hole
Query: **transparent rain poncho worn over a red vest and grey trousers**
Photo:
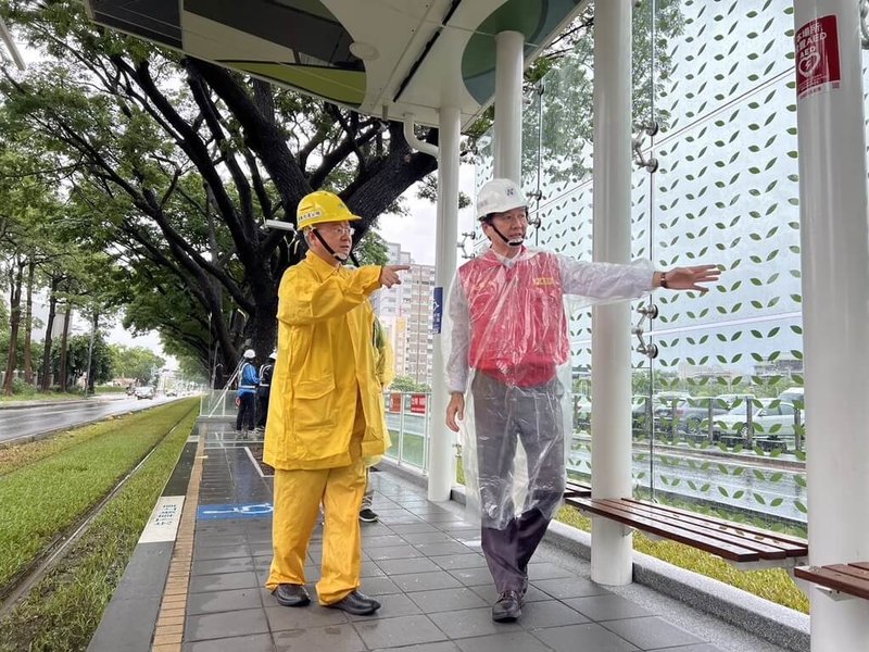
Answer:
[[570, 311], [652, 289], [652, 264], [583, 263], [522, 248], [463, 265], [446, 315], [446, 383], [465, 392], [459, 442], [467, 504], [505, 529], [562, 503], [572, 434]]

